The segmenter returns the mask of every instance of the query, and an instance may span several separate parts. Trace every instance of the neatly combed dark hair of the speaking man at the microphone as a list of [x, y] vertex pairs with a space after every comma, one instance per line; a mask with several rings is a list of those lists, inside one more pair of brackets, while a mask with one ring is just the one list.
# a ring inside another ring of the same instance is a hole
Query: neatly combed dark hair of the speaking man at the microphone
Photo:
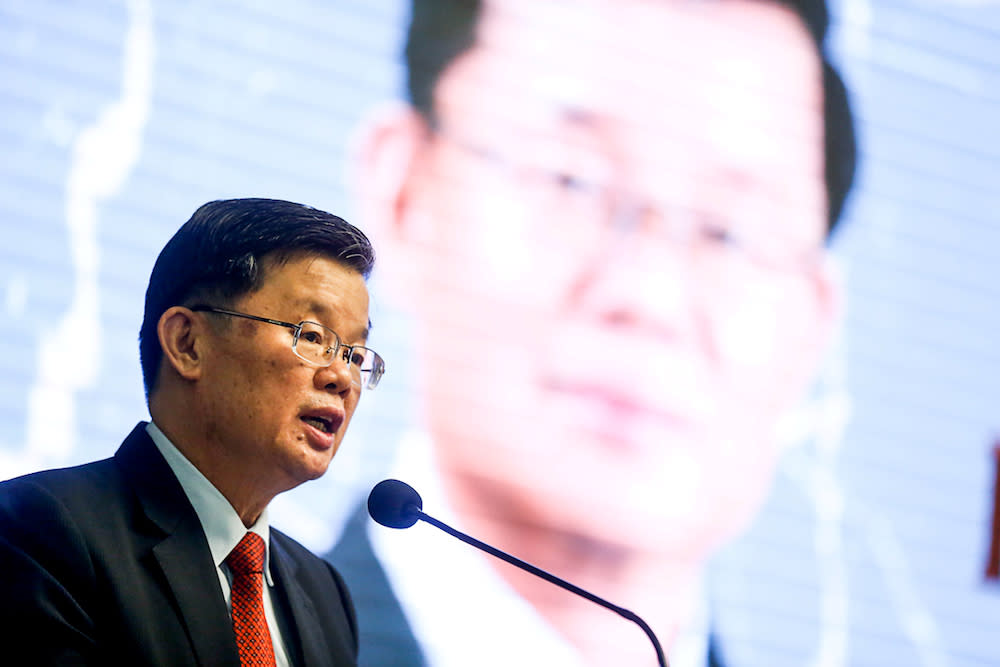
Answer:
[[167, 241], [149, 276], [139, 330], [146, 398], [163, 358], [156, 329], [168, 308], [195, 300], [230, 303], [263, 285], [264, 260], [280, 264], [300, 253], [329, 257], [365, 279], [375, 263], [375, 251], [361, 230], [310, 206], [278, 199], [226, 199], [200, 206]]

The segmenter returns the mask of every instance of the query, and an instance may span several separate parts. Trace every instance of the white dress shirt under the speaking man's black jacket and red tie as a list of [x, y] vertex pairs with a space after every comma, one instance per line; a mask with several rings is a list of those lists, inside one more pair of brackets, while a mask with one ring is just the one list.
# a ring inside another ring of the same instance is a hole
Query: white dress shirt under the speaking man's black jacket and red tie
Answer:
[[243, 525], [243, 520], [240, 519], [239, 514], [229, 504], [226, 497], [208, 481], [207, 477], [201, 474], [200, 470], [194, 467], [194, 464], [187, 460], [156, 424], [150, 422], [146, 426], [146, 432], [153, 439], [156, 448], [163, 454], [163, 458], [167, 460], [167, 465], [174, 471], [177, 481], [181, 483], [184, 493], [191, 501], [191, 505], [201, 521], [201, 527], [205, 531], [208, 548], [212, 552], [212, 559], [215, 561], [219, 575], [219, 585], [226, 598], [226, 605], [230, 607], [230, 613], [232, 613], [233, 575], [229, 566], [225, 564], [226, 557], [243, 539], [247, 530], [257, 533], [264, 540], [264, 581], [267, 583], [263, 587], [264, 615], [267, 617], [267, 627], [271, 632], [275, 663], [278, 667], [288, 667], [290, 664], [288, 652], [285, 649], [285, 642], [281, 636], [278, 619], [274, 613], [274, 604], [271, 600], [271, 588], [274, 586], [274, 580], [271, 577], [270, 526], [267, 520], [267, 510], [265, 509], [257, 522], [248, 529]]

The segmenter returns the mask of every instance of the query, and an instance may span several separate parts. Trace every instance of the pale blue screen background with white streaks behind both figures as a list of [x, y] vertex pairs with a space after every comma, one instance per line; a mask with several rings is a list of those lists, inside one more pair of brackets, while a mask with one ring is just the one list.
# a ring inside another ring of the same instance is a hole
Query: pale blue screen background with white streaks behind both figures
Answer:
[[[844, 329], [826, 424], [789, 448], [713, 564], [737, 665], [1000, 664], [984, 581], [1000, 437], [1000, 4], [842, 0], [858, 185], [834, 252]], [[112, 454], [146, 416], [156, 253], [201, 203], [269, 196], [351, 219], [363, 117], [398, 98], [406, 8], [303, 0], [0, 4], [0, 478]], [[407, 324], [331, 473], [274, 505], [323, 551], [412, 422]]]

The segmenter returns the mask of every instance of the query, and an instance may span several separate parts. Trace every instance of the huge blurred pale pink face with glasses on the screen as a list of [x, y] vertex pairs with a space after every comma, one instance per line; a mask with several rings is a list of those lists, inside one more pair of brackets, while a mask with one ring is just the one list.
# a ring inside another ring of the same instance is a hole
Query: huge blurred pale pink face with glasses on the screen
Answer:
[[800, 19], [489, 5], [434, 99], [367, 164], [456, 505], [703, 555], [761, 501], [833, 316]]

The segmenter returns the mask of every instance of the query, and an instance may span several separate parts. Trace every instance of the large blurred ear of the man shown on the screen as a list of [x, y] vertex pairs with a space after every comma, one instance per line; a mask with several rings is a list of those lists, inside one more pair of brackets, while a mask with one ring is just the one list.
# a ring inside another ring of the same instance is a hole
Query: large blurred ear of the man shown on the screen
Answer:
[[354, 143], [352, 180], [362, 227], [379, 255], [377, 273], [394, 300], [412, 303], [433, 238], [423, 191], [431, 132], [409, 105], [374, 113]]

